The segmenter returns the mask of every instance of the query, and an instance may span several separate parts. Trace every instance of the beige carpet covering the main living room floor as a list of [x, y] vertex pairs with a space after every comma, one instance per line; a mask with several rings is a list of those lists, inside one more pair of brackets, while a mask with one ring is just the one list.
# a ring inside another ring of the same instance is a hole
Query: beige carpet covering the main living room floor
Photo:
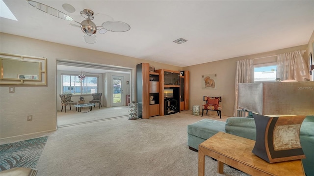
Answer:
[[[197, 176], [198, 153], [188, 149], [186, 126], [219, 117], [191, 114], [111, 118], [28, 136], [49, 136], [37, 176]], [[1, 142], [12, 140], [17, 139]], [[225, 173], [217, 174], [217, 162], [209, 157], [205, 165], [206, 176], [248, 176], [226, 165]]]

